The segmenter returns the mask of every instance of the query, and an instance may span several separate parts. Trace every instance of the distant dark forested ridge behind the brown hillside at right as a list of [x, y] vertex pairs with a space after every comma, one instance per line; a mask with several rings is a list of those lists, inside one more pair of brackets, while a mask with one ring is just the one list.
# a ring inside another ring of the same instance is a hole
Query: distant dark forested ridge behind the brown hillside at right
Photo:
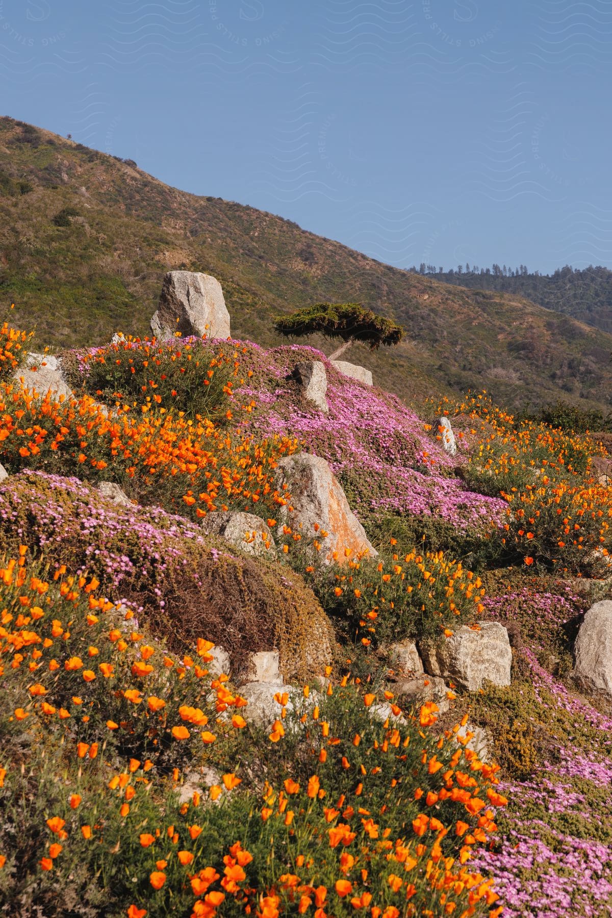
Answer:
[[525, 264], [517, 268], [506, 264], [494, 264], [490, 268], [460, 264], [444, 271], [434, 264], [421, 263], [418, 268], [413, 266], [409, 270], [427, 274], [445, 284], [517, 294], [598, 329], [612, 331], [612, 271], [601, 265], [591, 264], [588, 268], [574, 270], [566, 264], [554, 274], [530, 272]]

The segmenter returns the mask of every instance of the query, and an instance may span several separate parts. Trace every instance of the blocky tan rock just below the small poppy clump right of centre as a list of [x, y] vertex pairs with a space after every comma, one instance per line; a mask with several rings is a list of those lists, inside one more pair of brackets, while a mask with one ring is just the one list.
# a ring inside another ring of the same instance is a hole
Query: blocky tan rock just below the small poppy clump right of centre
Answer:
[[476, 691], [484, 681], [510, 685], [512, 650], [508, 633], [497, 621], [481, 621], [477, 628], [463, 625], [438, 644], [419, 647], [426, 672], [454, 679], [463, 689]]

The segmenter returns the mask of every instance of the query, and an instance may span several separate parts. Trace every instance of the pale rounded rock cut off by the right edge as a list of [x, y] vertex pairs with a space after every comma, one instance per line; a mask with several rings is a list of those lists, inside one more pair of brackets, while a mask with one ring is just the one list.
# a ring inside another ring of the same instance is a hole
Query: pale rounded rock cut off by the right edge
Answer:
[[577, 681], [612, 698], [612, 600], [595, 602], [585, 613], [574, 653]]

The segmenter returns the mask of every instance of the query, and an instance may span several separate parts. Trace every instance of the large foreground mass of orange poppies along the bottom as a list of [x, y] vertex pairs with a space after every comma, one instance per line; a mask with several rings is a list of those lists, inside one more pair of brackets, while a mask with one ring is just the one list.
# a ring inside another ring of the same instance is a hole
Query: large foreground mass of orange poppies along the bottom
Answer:
[[[291, 697], [279, 691], [264, 756], [294, 762], [295, 742], [304, 752], [280, 783], [264, 772], [258, 787], [239, 766], [248, 761], [240, 744], [262, 737], [228, 677], [208, 672], [212, 644], [169, 655], [132, 611], [97, 595], [95, 579], [63, 568], [43, 577], [27, 555], [22, 546], [0, 569], [0, 696], [11, 711], [0, 768], [4, 871], [25, 869], [4, 831], [23, 775], [11, 738], [25, 729], [37, 739], [30, 765], [42, 756], [39, 794], [52, 788], [43, 833], [36, 827], [43, 850], [29, 867], [48, 878], [42, 889], [56, 876], [67, 882], [76, 861], [104, 878], [121, 850], [139, 878], [121, 893], [129, 918], [499, 914], [492, 879], [468, 861], [506, 799], [496, 767], [459, 740], [459, 724], [432, 732], [435, 704], [413, 716], [391, 692], [363, 692], [348, 676]], [[230, 753], [233, 770], [179, 800], [188, 767]]]

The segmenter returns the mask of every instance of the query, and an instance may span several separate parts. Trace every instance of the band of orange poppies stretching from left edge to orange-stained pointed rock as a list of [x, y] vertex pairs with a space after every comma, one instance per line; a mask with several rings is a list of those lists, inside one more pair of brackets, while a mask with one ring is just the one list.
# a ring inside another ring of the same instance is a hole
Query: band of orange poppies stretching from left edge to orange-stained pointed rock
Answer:
[[36, 466], [80, 477], [139, 479], [140, 487], [164, 488], [175, 509], [205, 516], [229, 506], [274, 503], [273, 470], [297, 442], [273, 436], [256, 442], [212, 420], [187, 420], [179, 412], [107, 410], [91, 397], [35, 397], [18, 383], [0, 384], [3, 463]]

